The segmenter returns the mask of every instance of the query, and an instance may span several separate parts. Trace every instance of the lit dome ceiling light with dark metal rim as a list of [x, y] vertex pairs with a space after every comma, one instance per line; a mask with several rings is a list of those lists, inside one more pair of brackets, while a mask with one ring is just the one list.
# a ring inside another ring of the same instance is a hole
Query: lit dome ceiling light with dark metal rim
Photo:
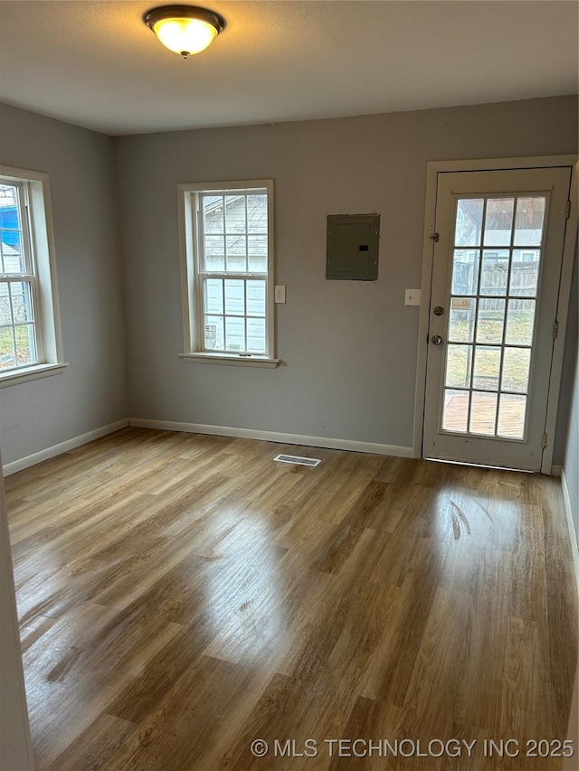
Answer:
[[170, 51], [185, 59], [207, 48], [225, 27], [225, 19], [195, 5], [161, 5], [143, 16], [147, 27]]

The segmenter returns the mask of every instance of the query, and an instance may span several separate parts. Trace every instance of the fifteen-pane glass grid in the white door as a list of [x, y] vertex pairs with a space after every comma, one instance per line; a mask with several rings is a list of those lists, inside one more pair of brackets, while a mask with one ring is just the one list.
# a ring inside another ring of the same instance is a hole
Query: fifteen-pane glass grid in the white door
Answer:
[[545, 204], [457, 202], [443, 431], [524, 440]]

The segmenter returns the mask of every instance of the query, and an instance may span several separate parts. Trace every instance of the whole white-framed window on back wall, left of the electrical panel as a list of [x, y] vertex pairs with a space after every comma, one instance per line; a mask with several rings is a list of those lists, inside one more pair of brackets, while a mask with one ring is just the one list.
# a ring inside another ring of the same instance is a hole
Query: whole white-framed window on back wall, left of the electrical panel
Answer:
[[272, 181], [182, 184], [179, 193], [183, 357], [276, 366]]

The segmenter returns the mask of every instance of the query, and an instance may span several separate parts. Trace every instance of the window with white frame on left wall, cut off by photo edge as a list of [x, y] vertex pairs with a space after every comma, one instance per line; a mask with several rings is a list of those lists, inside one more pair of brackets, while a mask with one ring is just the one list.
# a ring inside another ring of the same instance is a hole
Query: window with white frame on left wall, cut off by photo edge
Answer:
[[46, 174], [0, 166], [0, 386], [62, 371]]

